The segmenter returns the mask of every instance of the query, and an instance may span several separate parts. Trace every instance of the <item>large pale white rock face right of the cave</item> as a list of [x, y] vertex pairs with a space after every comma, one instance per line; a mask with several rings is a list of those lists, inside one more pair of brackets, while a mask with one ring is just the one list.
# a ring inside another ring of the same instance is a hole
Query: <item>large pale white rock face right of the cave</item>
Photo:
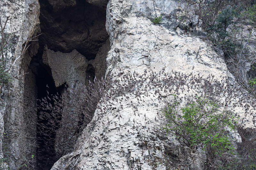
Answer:
[[[255, 99], [232, 81], [222, 56], [201, 39], [177, 35], [149, 19], [184, 6], [174, 0], [108, 2], [106, 75], [115, 81], [109, 93], [116, 95], [102, 99], [74, 151], [52, 170], [166, 169], [164, 144], [154, 129], [172, 94], [208, 95], [255, 130]], [[202, 169], [198, 161], [193, 166]]]

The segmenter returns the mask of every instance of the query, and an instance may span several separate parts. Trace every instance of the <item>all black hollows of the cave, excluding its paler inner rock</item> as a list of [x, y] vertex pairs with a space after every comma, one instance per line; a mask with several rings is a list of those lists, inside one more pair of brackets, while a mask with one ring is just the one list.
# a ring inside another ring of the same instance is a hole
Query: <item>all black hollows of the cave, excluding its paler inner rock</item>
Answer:
[[[34, 88], [37, 91], [36, 168], [47, 170], [63, 156], [62, 153], [66, 153], [65, 147], [73, 148], [76, 141], [67, 144], [70, 146], [56, 145], [56, 141], [61, 140], [57, 137], [61, 123], [66, 123], [62, 122], [64, 114], [61, 104], [58, 103], [61, 102], [61, 94], [67, 90], [68, 85], [64, 83], [59, 87], [55, 86], [52, 68], [46, 65], [43, 57], [44, 50], [62, 53], [76, 50], [92, 63], [109, 36], [105, 28], [107, 3], [97, 6], [85, 0], [39, 0], [39, 3], [42, 35], [39, 36], [39, 48], [36, 56], [32, 57], [28, 70], [34, 75], [30, 79], [36, 82], [33, 86], [36, 86]], [[97, 61], [102, 62], [99, 59]], [[93, 81], [96, 70], [96, 67], [88, 64], [84, 70], [85, 79]], [[78, 131], [83, 125], [83, 115], [81, 117], [82, 120], [77, 123]], [[57, 154], [56, 150], [61, 154]]]

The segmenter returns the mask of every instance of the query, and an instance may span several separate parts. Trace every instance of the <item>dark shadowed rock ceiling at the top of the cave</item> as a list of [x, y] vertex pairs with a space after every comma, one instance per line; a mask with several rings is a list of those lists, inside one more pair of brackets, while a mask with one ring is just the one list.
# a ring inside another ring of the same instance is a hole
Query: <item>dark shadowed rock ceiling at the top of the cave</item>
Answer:
[[41, 0], [40, 5], [41, 43], [53, 51], [70, 53], [76, 49], [87, 60], [95, 58], [108, 39], [106, 6], [84, 0]]

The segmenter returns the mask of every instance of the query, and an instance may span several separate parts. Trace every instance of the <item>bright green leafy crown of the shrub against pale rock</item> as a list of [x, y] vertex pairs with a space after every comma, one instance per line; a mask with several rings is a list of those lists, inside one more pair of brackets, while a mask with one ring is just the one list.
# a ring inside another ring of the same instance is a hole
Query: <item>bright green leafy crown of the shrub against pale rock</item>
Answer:
[[163, 114], [167, 120], [163, 128], [167, 134], [173, 134], [179, 142], [192, 148], [203, 144], [216, 153], [233, 150], [226, 129], [235, 128], [235, 116], [231, 112], [219, 112], [216, 103], [207, 98], [196, 97], [180, 108], [177, 97], [167, 105]]

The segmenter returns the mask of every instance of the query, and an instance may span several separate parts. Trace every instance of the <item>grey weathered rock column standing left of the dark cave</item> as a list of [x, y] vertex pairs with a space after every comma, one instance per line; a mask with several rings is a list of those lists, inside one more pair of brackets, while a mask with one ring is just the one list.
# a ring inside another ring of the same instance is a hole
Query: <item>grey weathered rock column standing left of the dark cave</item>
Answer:
[[[5, 33], [10, 34], [14, 39], [12, 41], [23, 41], [35, 36], [39, 31], [39, 3], [37, 0], [20, 0], [0, 2], [0, 16], [2, 22], [10, 16]], [[13, 83], [1, 89], [1, 119], [4, 119], [4, 130], [8, 134], [5, 144], [11, 152], [9, 155], [10, 168], [18, 168], [23, 164], [23, 156], [28, 158], [35, 154], [36, 142], [36, 94], [30, 86], [35, 84], [30, 77], [33, 75], [23, 76], [28, 70], [31, 57], [36, 54], [38, 43], [31, 43], [33, 48], [30, 48], [23, 56], [19, 54], [22, 51], [23, 42], [13, 43], [14, 48], [7, 57], [12, 58], [12, 62], [16, 60], [14, 65], [11, 65], [11, 73], [16, 76]], [[21, 78], [23, 76], [23, 78]], [[2, 126], [1, 126], [2, 127]], [[2, 145], [2, 143], [1, 143]], [[27, 152], [29, 151], [29, 152]], [[23, 155], [23, 156], [22, 156]], [[2, 157], [1, 157], [2, 158]], [[16, 162], [16, 163], [14, 163]], [[35, 162], [29, 160], [33, 165]], [[30, 166], [30, 165], [28, 165]]]

